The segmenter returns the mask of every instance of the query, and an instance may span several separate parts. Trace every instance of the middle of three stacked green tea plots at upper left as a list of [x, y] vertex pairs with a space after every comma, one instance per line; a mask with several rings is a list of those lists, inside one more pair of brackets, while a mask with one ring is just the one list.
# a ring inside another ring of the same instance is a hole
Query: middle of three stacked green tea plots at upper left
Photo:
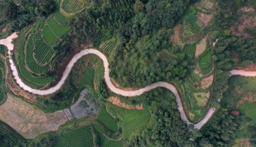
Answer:
[[54, 20], [53, 17], [49, 17], [47, 19], [47, 24], [57, 37], [63, 37], [72, 28], [71, 26], [61, 26]]

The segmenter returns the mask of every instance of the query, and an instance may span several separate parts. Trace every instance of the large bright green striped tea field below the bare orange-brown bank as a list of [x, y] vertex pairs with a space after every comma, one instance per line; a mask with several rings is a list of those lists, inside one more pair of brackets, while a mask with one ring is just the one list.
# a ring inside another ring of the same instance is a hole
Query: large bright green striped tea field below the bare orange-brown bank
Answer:
[[125, 109], [113, 104], [110, 105], [122, 118], [124, 125], [123, 137], [125, 139], [128, 139], [134, 130], [146, 126], [151, 118], [148, 110]]

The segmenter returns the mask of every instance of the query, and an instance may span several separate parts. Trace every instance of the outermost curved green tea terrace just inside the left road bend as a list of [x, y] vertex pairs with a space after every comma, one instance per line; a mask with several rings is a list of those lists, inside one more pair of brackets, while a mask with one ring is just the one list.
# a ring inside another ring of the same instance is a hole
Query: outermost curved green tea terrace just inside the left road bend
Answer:
[[32, 85], [34, 87], [41, 87], [39, 85], [44, 85], [53, 80], [52, 77], [42, 77], [42, 76], [32, 76], [31, 73], [29, 73], [25, 67], [25, 62], [20, 58], [18, 62], [18, 68], [20, 72], [20, 77], [22, 80], [29, 82], [29, 85]]

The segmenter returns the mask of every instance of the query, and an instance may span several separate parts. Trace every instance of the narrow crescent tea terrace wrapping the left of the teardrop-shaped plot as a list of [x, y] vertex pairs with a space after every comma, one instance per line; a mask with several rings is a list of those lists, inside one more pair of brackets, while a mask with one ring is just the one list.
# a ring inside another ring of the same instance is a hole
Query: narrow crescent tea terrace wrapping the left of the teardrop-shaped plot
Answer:
[[39, 66], [33, 58], [33, 34], [29, 37], [27, 41], [27, 46], [26, 46], [26, 65], [29, 67], [29, 69], [36, 73], [36, 74], [43, 74], [46, 73], [49, 70], [49, 66], [46, 67], [41, 67]]

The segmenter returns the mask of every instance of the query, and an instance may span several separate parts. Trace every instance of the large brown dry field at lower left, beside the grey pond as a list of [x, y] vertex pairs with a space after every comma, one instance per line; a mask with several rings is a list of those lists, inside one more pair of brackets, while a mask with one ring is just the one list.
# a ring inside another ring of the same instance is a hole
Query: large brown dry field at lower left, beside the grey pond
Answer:
[[2, 121], [27, 139], [33, 139], [45, 132], [57, 131], [67, 121], [62, 110], [44, 113], [10, 94], [7, 94], [6, 102], [0, 106], [0, 113]]

